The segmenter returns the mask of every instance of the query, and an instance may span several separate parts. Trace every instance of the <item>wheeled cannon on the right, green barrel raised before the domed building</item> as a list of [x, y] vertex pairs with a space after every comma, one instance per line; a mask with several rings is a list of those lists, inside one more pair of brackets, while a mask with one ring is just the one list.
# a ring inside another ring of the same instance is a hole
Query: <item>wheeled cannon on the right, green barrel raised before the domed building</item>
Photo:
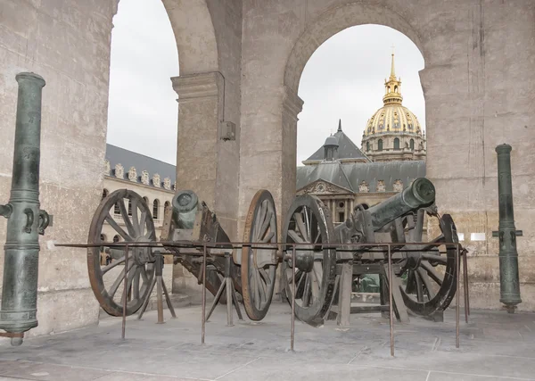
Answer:
[[[350, 305], [353, 280], [366, 274], [380, 275], [381, 301], [386, 304], [387, 253], [374, 244], [391, 242], [398, 244], [391, 248], [397, 318], [407, 320], [412, 313], [440, 319], [440, 312], [456, 293], [458, 237], [453, 219], [448, 214], [440, 216], [434, 200], [432, 182], [416, 178], [383, 203], [371, 208], [357, 205], [350, 218], [334, 228], [328, 209], [316, 196], [296, 197], [286, 214], [283, 244], [300, 244], [305, 249], [296, 251], [295, 263], [282, 262], [282, 284], [288, 299], [295, 297], [296, 317], [318, 326], [337, 315], [339, 323], [349, 324], [348, 313], [359, 310]], [[430, 244], [422, 244], [426, 215], [438, 219], [441, 231]], [[358, 249], [329, 246], [366, 243], [370, 245]], [[435, 245], [440, 243], [444, 245]], [[376, 310], [385, 311], [381, 306]]]

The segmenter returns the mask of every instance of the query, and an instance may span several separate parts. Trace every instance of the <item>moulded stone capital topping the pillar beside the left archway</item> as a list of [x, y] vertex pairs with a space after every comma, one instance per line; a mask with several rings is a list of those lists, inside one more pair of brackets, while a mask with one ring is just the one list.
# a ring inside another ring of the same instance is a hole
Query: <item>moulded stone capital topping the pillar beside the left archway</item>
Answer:
[[220, 72], [188, 74], [172, 77], [173, 90], [177, 92], [178, 102], [218, 96], [222, 91], [224, 79]]

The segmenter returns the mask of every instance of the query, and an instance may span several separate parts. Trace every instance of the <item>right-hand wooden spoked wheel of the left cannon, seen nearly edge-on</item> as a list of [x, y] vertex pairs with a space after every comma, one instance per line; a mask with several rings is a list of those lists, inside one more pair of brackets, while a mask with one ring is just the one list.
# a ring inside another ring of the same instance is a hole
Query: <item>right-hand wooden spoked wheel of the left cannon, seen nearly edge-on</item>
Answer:
[[[243, 242], [276, 243], [276, 209], [273, 196], [265, 189], [254, 195], [247, 219]], [[275, 290], [276, 247], [244, 246], [242, 249], [243, 305], [251, 320], [264, 319]]]

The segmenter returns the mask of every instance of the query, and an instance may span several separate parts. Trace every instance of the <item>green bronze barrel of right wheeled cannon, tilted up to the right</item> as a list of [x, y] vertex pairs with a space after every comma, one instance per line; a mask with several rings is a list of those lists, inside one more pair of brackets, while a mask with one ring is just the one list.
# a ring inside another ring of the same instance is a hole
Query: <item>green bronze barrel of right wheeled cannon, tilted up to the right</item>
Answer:
[[435, 188], [432, 182], [427, 178], [416, 178], [403, 192], [372, 206], [367, 211], [372, 216], [372, 228], [377, 231], [405, 213], [429, 206], [434, 201]]

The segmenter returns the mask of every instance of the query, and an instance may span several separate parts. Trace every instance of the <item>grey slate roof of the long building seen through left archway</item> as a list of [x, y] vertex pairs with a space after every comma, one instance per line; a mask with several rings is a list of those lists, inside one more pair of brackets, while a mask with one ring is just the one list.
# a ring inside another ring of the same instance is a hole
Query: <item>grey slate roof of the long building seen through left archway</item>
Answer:
[[170, 178], [171, 184], [175, 184], [177, 179], [177, 167], [175, 165], [161, 162], [160, 160], [153, 159], [152, 157], [145, 156], [141, 153], [128, 151], [116, 145], [106, 145], [106, 160], [110, 162], [112, 176], [115, 170], [115, 164], [121, 164], [125, 169], [126, 178], [128, 178], [128, 170], [130, 167], [136, 168], [138, 182], [141, 182], [140, 178], [143, 170], [149, 172], [149, 178], [152, 178], [152, 175], [156, 173], [160, 175], [161, 181], [163, 181], [164, 178]]

